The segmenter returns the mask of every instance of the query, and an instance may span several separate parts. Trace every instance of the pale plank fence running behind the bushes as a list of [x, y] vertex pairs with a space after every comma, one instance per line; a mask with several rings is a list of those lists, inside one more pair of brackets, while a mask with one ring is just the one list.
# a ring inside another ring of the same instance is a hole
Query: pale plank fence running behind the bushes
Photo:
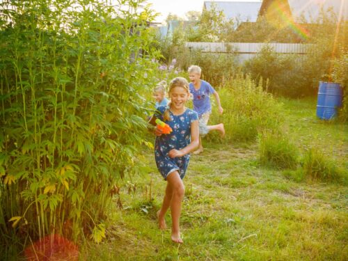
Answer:
[[308, 54], [310, 45], [292, 43], [251, 43], [251, 42], [186, 42], [189, 49], [200, 49], [202, 52], [214, 54], [235, 54], [239, 62], [243, 62], [260, 53], [269, 46], [277, 54]]

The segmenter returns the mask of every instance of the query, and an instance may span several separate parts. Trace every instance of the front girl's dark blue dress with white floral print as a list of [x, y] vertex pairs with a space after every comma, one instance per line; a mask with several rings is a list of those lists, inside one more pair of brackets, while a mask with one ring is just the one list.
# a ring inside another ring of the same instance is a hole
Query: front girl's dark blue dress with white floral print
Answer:
[[[167, 106], [159, 106], [155, 113], [155, 117], [163, 120], [164, 111]], [[181, 115], [174, 115], [169, 111], [171, 120], [164, 121], [171, 128], [173, 132], [171, 134], [162, 134], [156, 137], [155, 142], [155, 159], [159, 172], [167, 179], [167, 176], [173, 171], [178, 171], [181, 179], [189, 165], [190, 155], [184, 155], [183, 157], [171, 158], [168, 156], [168, 152], [176, 149], [181, 150], [191, 143], [191, 123], [198, 120], [198, 114], [196, 111], [186, 109]]]

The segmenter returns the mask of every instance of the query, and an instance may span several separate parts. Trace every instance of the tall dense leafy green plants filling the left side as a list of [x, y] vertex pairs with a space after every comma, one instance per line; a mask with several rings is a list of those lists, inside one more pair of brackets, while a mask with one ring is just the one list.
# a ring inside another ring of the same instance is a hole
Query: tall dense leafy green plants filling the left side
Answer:
[[142, 2], [2, 1], [1, 260], [46, 235], [104, 237], [118, 180], [146, 143], [152, 14], [137, 11]]

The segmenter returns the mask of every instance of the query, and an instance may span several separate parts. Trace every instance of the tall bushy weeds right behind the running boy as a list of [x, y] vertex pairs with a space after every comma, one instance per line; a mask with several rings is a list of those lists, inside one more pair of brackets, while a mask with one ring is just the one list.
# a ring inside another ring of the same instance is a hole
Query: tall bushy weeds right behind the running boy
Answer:
[[213, 110], [211, 123], [223, 122], [226, 139], [250, 142], [266, 130], [279, 129], [283, 122], [282, 105], [263, 85], [267, 83], [262, 79], [256, 84], [248, 74], [237, 74], [228, 86], [218, 90], [224, 111], [220, 116]]

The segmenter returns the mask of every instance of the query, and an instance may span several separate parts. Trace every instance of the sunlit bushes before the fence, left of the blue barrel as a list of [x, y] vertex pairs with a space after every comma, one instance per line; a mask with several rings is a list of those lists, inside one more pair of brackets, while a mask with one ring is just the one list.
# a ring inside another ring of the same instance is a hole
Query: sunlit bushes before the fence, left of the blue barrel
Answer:
[[[244, 70], [253, 79], [269, 79], [272, 93], [287, 97], [316, 95], [319, 81], [332, 81], [333, 47], [330, 39], [318, 39], [315, 44], [308, 45], [308, 55], [302, 56], [276, 54], [266, 46], [257, 56], [244, 63]], [[338, 49], [336, 56], [341, 57], [343, 52], [342, 48]], [[344, 63], [338, 61], [337, 68]]]

